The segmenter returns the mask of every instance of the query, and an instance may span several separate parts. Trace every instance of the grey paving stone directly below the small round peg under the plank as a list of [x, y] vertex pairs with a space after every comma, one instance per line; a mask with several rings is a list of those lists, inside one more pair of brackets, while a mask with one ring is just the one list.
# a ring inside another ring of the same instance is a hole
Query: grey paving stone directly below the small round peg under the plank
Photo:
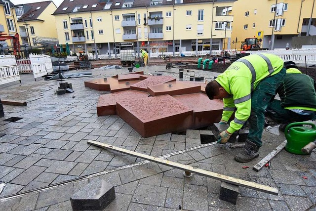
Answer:
[[182, 208], [192, 211], [208, 211], [206, 187], [185, 184]]

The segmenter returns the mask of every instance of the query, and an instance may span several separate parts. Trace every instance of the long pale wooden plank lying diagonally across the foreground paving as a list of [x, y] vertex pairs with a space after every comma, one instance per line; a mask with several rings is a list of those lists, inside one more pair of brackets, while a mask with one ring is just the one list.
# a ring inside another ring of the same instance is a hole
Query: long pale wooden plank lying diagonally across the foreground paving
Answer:
[[226, 175], [223, 175], [223, 174], [218, 174], [218, 173], [214, 173], [214, 172], [203, 170], [203, 169], [195, 169], [195, 168], [193, 168], [191, 166], [188, 166], [188, 165], [183, 165], [183, 164], [175, 163], [175, 162], [172, 162], [172, 161], [156, 158], [156, 157], [153, 157], [153, 156], [144, 155], [144, 154], [141, 154], [141, 153], [138, 153], [138, 152], [133, 152], [133, 151], [130, 151], [130, 150], [122, 149], [122, 148], [119, 148], [119, 147], [115, 147], [115, 146], [112, 146], [112, 145], [109, 145], [109, 144], [100, 143], [100, 142], [97, 142], [97, 141], [88, 140], [87, 143], [95, 145], [95, 146], [103, 147], [103, 148], [106, 148], [106, 149], [110, 149], [110, 150], [113, 150], [113, 151], [117, 151], [117, 152], [120, 152], [120, 153], [124, 153], [124, 154], [127, 154], [127, 155], [131, 155], [131, 156], [135, 156], [135, 157], [138, 157], [138, 158], [142, 158], [142, 159], [145, 159], [145, 160], [148, 160], [148, 161], [152, 161], [152, 162], [155, 162], [155, 163], [158, 163], [158, 164], [162, 164], [162, 165], [165, 165], [165, 166], [168, 166], [168, 167], [181, 169], [181, 170], [185, 170], [185, 171], [191, 171], [192, 173], [196, 173], [196, 174], [199, 174], [199, 175], [202, 175], [202, 176], [206, 176], [206, 177], [210, 177], [210, 178], [213, 178], [213, 179], [218, 179], [218, 180], [230, 183], [230, 184], [234, 184], [234, 185], [238, 185], [238, 186], [242, 186], [242, 187], [246, 187], [246, 188], [262, 191], [262, 192], [273, 194], [273, 195], [277, 195], [278, 194], [278, 190], [276, 188], [269, 187], [269, 186], [266, 186], [266, 185], [261, 185], [261, 184], [257, 184], [257, 183], [254, 183], [254, 182], [249, 182], [249, 181], [246, 181], [246, 180], [242, 180], [242, 179], [237, 179], [235, 177], [226, 176]]

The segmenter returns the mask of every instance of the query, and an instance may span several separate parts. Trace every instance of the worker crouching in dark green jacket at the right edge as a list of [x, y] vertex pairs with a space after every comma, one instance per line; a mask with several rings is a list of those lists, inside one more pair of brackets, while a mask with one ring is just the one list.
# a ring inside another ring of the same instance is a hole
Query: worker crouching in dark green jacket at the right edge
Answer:
[[294, 122], [316, 119], [315, 81], [302, 74], [292, 61], [284, 62], [287, 69], [283, 82], [276, 89], [281, 100], [274, 99], [268, 104], [266, 114], [277, 123], [279, 130]]

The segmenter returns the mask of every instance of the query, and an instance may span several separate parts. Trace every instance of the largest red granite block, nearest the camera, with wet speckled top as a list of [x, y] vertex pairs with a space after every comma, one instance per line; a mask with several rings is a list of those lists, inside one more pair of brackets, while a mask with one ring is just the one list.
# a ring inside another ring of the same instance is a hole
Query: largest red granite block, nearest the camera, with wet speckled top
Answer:
[[193, 127], [193, 110], [169, 95], [117, 101], [117, 114], [145, 138]]

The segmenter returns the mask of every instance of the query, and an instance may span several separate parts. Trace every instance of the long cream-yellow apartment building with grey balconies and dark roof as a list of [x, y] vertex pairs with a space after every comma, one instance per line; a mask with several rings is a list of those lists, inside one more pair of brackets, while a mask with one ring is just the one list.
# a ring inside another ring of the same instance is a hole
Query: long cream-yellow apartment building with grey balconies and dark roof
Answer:
[[53, 15], [59, 42], [72, 52], [217, 50], [230, 42], [234, 1], [64, 0]]

